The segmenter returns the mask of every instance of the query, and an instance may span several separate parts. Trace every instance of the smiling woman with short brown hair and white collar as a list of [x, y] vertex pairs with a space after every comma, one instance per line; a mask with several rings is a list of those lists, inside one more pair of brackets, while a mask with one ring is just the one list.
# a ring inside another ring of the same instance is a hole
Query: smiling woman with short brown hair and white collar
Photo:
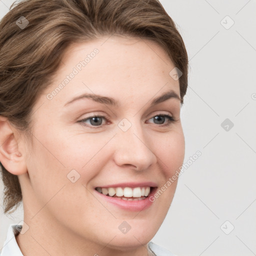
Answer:
[[172, 255], [188, 60], [159, 1], [26, 0], [0, 29], [1, 255]]

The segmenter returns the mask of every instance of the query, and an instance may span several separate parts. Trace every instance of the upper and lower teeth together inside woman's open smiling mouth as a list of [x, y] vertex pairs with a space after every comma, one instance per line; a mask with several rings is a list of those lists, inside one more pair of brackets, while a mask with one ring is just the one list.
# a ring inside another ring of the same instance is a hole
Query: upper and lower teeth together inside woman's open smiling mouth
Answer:
[[119, 198], [122, 200], [134, 201], [143, 200], [148, 197], [148, 194], [153, 187], [139, 186], [139, 187], [95, 187], [99, 193], [106, 196]]

